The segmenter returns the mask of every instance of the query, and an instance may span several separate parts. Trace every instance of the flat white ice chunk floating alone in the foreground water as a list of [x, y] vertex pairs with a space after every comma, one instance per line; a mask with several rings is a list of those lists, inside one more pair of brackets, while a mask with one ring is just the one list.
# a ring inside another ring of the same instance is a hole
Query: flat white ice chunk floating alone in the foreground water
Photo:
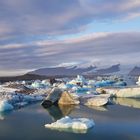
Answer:
[[54, 123], [46, 124], [46, 128], [60, 131], [70, 131], [75, 133], [86, 133], [89, 128], [94, 126], [94, 121], [87, 118], [70, 118], [68, 116], [57, 120]]

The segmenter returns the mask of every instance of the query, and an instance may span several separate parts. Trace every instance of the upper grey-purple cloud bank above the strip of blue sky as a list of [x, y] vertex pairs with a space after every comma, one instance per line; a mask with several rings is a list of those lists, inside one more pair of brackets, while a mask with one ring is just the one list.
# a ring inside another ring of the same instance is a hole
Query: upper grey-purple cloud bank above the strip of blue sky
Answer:
[[1, 0], [0, 9], [3, 37], [76, 33], [92, 21], [140, 16], [139, 0]]

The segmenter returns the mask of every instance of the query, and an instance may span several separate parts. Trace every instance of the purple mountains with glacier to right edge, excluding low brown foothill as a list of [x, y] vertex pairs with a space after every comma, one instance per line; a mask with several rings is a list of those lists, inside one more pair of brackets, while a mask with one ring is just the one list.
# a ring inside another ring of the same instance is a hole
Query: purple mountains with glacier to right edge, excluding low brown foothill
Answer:
[[31, 71], [27, 74], [41, 75], [41, 76], [75, 76], [75, 75], [140, 75], [140, 67], [124, 66], [115, 64], [112, 66], [73, 66], [73, 67], [53, 67], [42, 68]]

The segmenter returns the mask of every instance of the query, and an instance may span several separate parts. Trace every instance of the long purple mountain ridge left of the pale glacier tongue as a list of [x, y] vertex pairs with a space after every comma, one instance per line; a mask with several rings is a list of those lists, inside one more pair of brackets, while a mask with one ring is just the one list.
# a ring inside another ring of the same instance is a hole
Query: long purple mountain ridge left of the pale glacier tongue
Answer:
[[53, 68], [42, 68], [35, 71], [31, 71], [28, 74], [45, 75], [45, 76], [73, 76], [78, 74], [84, 75], [108, 75], [120, 72], [120, 64], [108, 66], [106, 68], [98, 67], [53, 67]]

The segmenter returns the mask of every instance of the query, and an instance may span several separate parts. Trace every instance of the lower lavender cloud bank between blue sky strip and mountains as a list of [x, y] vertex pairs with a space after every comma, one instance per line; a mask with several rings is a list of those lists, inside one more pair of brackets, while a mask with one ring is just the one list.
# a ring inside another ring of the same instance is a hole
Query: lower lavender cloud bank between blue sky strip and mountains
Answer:
[[96, 33], [0, 48], [0, 69], [31, 70], [63, 64], [139, 65], [140, 32]]

